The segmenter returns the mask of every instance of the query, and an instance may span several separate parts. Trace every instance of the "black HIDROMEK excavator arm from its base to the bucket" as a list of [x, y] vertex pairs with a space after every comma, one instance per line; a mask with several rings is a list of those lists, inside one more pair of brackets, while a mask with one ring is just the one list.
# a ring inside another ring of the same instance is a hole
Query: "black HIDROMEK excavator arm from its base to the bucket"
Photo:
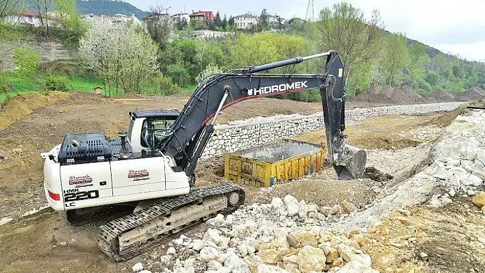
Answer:
[[[325, 57], [321, 75], [279, 75], [261, 73], [273, 68]], [[214, 75], [201, 83], [171, 127], [160, 151], [174, 157], [188, 177], [194, 177], [197, 160], [214, 131], [214, 121], [225, 107], [240, 101], [290, 92], [319, 89], [327, 155], [338, 179], [362, 177], [366, 153], [345, 143], [345, 79], [343, 64], [336, 51], [253, 66]]]

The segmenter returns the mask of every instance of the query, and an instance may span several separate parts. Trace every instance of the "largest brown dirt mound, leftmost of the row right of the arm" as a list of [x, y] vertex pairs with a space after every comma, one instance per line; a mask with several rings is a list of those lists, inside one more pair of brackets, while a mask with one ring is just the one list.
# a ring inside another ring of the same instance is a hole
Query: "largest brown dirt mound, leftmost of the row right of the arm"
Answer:
[[372, 86], [366, 92], [358, 94], [352, 103], [380, 103], [383, 105], [406, 105], [425, 103], [426, 99], [414, 92], [409, 86], [393, 88], [390, 86]]

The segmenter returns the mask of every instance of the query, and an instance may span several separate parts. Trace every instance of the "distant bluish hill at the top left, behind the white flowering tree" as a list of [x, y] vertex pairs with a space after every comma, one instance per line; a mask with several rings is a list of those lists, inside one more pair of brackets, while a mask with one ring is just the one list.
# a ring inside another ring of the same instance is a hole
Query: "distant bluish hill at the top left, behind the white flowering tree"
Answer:
[[140, 20], [148, 15], [148, 12], [144, 12], [130, 3], [113, 0], [77, 0], [77, 8], [82, 14], [131, 15], [134, 13]]

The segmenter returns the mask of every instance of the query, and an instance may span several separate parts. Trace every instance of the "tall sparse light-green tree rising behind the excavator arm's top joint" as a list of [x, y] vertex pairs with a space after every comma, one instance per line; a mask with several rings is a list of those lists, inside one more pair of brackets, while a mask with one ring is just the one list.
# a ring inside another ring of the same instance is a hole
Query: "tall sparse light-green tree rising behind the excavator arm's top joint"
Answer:
[[[321, 51], [333, 49], [338, 52], [345, 68], [346, 81], [350, 80], [356, 67], [366, 68], [364, 73], [369, 73], [383, 35], [380, 12], [373, 10], [371, 18], [366, 20], [362, 10], [344, 2], [323, 9], [320, 16], [319, 47]], [[356, 86], [349, 84], [347, 90], [354, 94]]]

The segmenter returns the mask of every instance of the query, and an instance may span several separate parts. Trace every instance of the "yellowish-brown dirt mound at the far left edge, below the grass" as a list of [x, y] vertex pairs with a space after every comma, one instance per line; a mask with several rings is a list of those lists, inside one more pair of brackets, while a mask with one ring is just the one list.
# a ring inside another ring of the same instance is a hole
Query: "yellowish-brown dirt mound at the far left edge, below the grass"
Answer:
[[45, 107], [58, 101], [69, 99], [69, 94], [65, 92], [53, 91], [49, 94], [29, 93], [22, 96], [14, 96], [3, 107], [0, 113], [0, 130], [3, 130], [12, 123], [29, 116], [35, 109]]

